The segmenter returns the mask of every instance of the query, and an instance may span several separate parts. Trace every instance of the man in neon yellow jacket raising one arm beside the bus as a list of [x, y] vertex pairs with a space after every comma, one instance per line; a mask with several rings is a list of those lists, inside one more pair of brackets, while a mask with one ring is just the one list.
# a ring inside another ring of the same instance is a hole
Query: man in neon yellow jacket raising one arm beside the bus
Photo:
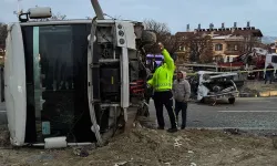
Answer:
[[164, 63], [156, 69], [153, 77], [147, 81], [147, 84], [154, 89], [154, 104], [156, 108], [156, 117], [158, 129], [164, 129], [164, 115], [163, 115], [163, 106], [166, 107], [168, 112], [168, 116], [171, 120], [172, 127], [167, 131], [173, 133], [177, 132], [177, 123], [176, 116], [173, 111], [173, 94], [172, 94], [172, 85], [173, 85], [173, 75], [175, 71], [174, 61], [171, 58], [170, 53], [162, 43], [158, 43], [158, 46], [164, 55]]

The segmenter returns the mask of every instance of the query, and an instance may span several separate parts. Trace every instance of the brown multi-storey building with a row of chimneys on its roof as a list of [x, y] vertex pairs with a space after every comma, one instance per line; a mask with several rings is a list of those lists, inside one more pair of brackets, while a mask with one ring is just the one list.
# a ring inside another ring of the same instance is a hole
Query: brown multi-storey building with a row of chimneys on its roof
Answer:
[[[222, 23], [219, 29], [214, 28], [213, 23], [209, 24], [209, 29], [202, 29], [198, 24], [198, 29], [194, 31], [189, 30], [188, 24], [186, 32], [177, 32], [175, 35], [183, 43], [178, 51], [178, 59], [188, 61], [192, 55], [207, 54], [205, 50], [213, 44], [213, 53], [208, 53], [213, 60], [230, 62], [236, 56], [252, 52], [253, 48], [259, 48], [263, 33], [259, 29], [250, 27], [249, 22], [245, 28], [237, 28], [235, 22], [233, 28], [225, 28]], [[204, 40], [206, 37], [209, 37], [212, 42]]]

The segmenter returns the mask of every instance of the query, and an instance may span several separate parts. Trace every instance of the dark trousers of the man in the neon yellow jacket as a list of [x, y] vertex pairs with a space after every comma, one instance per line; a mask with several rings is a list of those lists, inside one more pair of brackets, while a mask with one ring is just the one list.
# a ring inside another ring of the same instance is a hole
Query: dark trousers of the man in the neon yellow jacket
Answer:
[[164, 114], [163, 114], [163, 107], [167, 110], [170, 120], [171, 120], [171, 125], [172, 128], [176, 128], [176, 116], [173, 111], [173, 94], [171, 91], [165, 91], [165, 92], [155, 92], [154, 96], [154, 104], [156, 108], [156, 118], [157, 118], [157, 124], [160, 127], [164, 127]]

